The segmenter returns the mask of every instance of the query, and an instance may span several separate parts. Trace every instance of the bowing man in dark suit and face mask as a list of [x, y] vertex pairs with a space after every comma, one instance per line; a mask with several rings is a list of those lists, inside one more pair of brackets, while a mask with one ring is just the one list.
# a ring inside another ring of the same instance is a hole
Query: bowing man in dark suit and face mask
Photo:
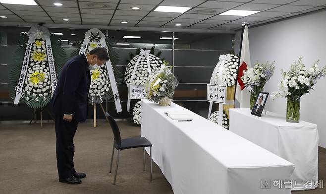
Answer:
[[70, 59], [62, 68], [52, 98], [55, 114], [56, 160], [59, 181], [80, 184], [84, 173], [74, 169], [75, 147], [73, 138], [78, 123], [85, 122], [88, 112], [88, 92], [91, 83], [90, 70], [109, 60], [104, 48], [95, 48], [88, 54]]

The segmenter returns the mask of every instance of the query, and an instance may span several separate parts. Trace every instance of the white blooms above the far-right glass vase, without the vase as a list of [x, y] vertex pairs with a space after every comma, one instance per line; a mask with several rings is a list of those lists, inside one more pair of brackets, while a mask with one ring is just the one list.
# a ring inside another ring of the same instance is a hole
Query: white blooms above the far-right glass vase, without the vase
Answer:
[[317, 79], [325, 77], [326, 74], [326, 66], [319, 68], [318, 63], [319, 61], [315, 62], [311, 68], [306, 68], [300, 56], [299, 61], [291, 65], [288, 72], [281, 70], [283, 79], [278, 84], [279, 91], [272, 93], [272, 99], [277, 97], [297, 99], [309, 93]]

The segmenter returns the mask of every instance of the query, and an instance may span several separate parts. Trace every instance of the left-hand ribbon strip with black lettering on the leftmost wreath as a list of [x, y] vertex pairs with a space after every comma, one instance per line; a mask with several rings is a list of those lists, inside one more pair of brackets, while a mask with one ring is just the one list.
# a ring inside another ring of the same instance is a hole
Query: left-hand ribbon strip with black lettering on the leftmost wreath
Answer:
[[32, 46], [33, 46], [33, 38], [31, 36], [29, 36], [26, 50], [25, 50], [25, 57], [23, 60], [23, 65], [21, 67], [18, 83], [16, 86], [16, 96], [15, 96], [15, 100], [13, 102], [13, 104], [15, 104], [15, 105], [19, 104], [21, 93], [23, 92], [23, 85], [25, 83], [25, 78], [26, 78], [26, 74], [27, 74], [27, 68], [29, 65], [29, 57], [31, 55]]

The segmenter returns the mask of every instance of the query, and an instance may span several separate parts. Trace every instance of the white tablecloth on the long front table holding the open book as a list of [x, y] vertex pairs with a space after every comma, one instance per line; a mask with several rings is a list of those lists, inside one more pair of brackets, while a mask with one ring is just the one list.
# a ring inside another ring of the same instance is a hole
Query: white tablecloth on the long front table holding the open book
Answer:
[[[193, 121], [173, 121], [164, 112]], [[141, 135], [152, 142], [153, 160], [174, 194], [290, 194], [273, 180], [289, 180], [292, 163], [174, 103], [142, 100]], [[261, 180], [270, 180], [271, 189], [261, 189]]]

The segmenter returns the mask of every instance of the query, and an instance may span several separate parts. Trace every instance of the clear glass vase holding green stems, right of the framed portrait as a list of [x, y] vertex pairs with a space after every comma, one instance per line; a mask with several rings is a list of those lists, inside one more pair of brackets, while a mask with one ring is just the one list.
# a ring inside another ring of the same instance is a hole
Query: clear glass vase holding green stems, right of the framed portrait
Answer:
[[286, 122], [299, 123], [300, 122], [300, 98], [287, 98], [286, 105]]

